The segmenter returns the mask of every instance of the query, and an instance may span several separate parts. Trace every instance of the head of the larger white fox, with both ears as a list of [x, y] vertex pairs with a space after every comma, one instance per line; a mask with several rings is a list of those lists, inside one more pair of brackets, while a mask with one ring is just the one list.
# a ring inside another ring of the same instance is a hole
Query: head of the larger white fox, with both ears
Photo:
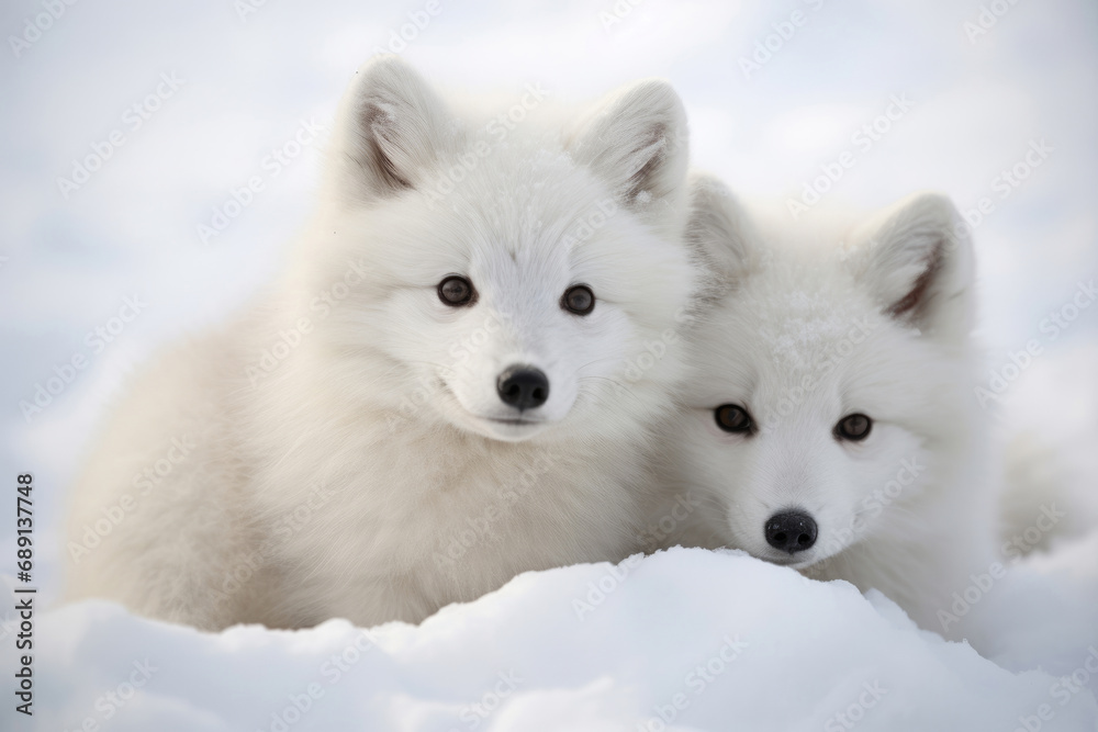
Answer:
[[351, 402], [504, 441], [662, 408], [694, 288], [683, 105], [661, 81], [546, 97], [459, 110], [396, 57], [356, 74], [298, 288], [355, 271], [318, 325]]

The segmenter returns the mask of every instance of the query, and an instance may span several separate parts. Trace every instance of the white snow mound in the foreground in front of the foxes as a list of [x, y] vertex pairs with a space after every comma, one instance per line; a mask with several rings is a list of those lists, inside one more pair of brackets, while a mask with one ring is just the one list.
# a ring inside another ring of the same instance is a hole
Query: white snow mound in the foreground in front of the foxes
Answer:
[[[1096, 548], [1098, 532], [1083, 552], [1088, 575], [1075, 577], [1089, 582], [1091, 600]], [[1019, 567], [982, 603], [1054, 575]], [[793, 731], [848, 729], [842, 714], [866, 731], [1009, 732], [1027, 719], [1093, 729], [1089, 690], [1010, 671], [1031, 667], [1029, 654], [1049, 647], [1042, 631], [1071, 616], [1024, 620], [996, 630], [1004, 668], [918, 630], [877, 593], [739, 552], [684, 549], [524, 574], [418, 627], [329, 620], [213, 634], [91, 601], [41, 619], [35, 722], [68, 731], [90, 719], [112, 732]], [[1044, 662], [1098, 677], [1093, 622], [1080, 639]], [[130, 683], [144, 686], [134, 695]]]

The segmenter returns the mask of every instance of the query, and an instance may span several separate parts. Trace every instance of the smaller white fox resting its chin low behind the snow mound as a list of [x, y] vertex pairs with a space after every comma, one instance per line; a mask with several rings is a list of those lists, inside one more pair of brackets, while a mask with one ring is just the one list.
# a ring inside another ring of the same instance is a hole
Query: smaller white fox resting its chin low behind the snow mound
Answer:
[[669, 428], [666, 484], [704, 506], [670, 543], [875, 587], [954, 633], [953, 594], [1001, 570], [957, 212], [922, 194], [796, 230], [705, 177], [691, 198], [688, 236], [728, 290], [693, 330]]

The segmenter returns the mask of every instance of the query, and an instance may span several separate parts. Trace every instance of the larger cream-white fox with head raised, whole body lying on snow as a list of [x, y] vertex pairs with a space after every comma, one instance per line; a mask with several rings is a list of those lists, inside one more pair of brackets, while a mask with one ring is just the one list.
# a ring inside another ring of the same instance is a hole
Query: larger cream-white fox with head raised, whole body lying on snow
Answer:
[[163, 354], [96, 449], [69, 598], [370, 626], [628, 555], [683, 371], [650, 346], [696, 296], [685, 113], [661, 81], [541, 97], [459, 112], [396, 58], [358, 71], [285, 275]]

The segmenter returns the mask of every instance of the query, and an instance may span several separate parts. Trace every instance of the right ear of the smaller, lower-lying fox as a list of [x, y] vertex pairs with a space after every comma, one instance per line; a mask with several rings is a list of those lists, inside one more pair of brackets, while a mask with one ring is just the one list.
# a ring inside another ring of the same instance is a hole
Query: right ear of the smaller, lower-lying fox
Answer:
[[900, 201], [854, 234], [849, 261], [882, 311], [931, 334], [972, 329], [974, 262], [964, 219], [944, 195]]

